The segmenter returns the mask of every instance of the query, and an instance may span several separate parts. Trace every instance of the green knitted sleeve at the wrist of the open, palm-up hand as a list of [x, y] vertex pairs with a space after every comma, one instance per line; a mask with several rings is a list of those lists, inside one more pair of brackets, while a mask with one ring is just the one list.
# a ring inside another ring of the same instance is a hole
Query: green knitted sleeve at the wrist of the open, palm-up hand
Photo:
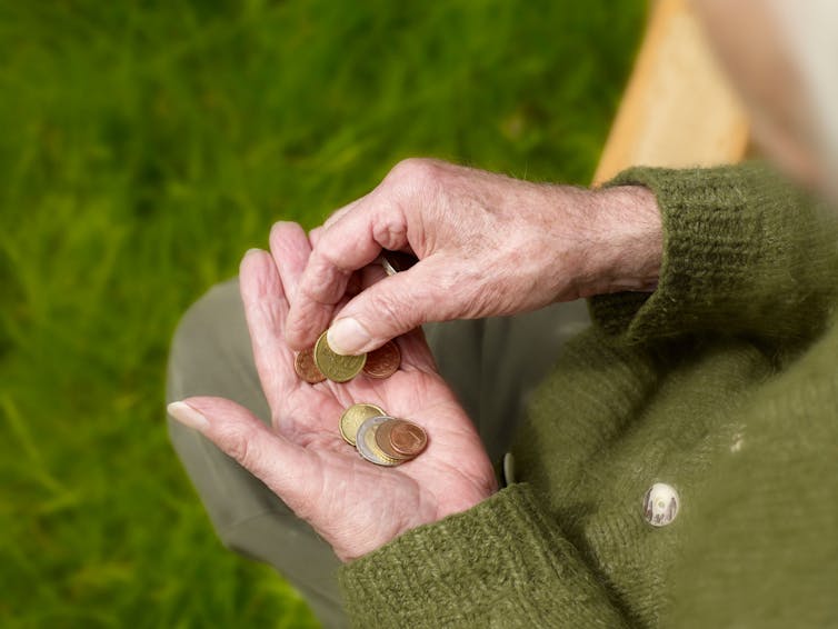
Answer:
[[625, 626], [526, 483], [341, 568], [355, 627]]

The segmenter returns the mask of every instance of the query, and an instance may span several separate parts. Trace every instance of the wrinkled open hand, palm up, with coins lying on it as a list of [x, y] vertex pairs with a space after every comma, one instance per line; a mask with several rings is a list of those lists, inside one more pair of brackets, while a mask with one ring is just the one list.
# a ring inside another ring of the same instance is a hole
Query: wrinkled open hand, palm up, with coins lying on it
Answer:
[[[170, 412], [201, 430], [261, 479], [331, 543], [342, 560], [360, 557], [417, 526], [463, 511], [496, 491], [477, 432], [437, 375], [423, 336], [398, 339], [401, 369], [387, 380], [311, 386], [297, 378], [285, 341], [288, 294], [309, 257], [309, 241], [292, 223], [271, 232], [272, 256], [250, 251], [240, 283], [256, 366], [270, 405], [272, 429], [245, 408], [199, 397]], [[377, 467], [340, 437], [338, 422], [356, 402], [380, 406], [428, 432], [428, 447], [396, 468]]]

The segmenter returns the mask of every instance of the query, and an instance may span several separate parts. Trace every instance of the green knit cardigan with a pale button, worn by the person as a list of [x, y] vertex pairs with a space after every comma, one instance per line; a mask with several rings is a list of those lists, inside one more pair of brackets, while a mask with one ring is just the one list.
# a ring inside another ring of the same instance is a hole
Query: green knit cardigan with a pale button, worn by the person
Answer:
[[626, 183], [658, 289], [590, 301], [516, 483], [341, 569], [357, 627], [838, 627], [838, 213], [759, 164]]

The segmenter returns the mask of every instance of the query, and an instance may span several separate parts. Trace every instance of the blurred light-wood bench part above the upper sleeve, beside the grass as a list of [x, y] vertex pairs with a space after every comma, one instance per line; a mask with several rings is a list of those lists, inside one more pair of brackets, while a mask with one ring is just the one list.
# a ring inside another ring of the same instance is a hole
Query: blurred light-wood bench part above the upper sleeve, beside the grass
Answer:
[[748, 121], [686, 0], [657, 0], [593, 183], [629, 166], [735, 163]]

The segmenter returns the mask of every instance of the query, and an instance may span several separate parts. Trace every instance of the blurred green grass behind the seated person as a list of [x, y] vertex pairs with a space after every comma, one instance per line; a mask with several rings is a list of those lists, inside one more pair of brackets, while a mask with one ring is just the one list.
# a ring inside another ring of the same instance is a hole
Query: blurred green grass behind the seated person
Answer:
[[403, 157], [586, 183], [645, 10], [0, 0], [0, 626], [316, 626], [170, 450], [179, 314]]

